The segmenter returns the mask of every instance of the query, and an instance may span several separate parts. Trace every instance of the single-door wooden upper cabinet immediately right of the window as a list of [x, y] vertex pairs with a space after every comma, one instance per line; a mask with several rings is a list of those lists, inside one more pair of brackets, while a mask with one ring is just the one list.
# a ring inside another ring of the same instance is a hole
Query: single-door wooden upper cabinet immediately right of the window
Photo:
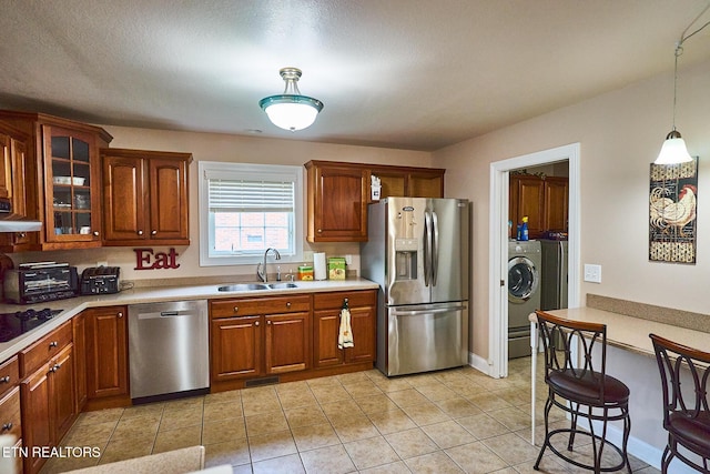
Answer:
[[310, 161], [308, 242], [367, 240], [369, 172], [358, 164]]

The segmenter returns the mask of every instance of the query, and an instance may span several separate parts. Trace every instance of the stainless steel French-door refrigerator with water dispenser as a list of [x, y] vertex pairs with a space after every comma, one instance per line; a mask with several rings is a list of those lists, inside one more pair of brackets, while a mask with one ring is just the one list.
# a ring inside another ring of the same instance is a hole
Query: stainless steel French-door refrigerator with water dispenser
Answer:
[[466, 364], [468, 201], [387, 198], [367, 212], [361, 273], [379, 284], [377, 369], [389, 376]]

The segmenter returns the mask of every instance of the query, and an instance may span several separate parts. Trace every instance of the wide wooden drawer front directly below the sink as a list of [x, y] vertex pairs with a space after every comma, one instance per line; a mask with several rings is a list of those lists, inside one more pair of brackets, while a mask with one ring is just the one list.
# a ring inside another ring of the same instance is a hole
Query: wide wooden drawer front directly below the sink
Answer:
[[243, 297], [210, 302], [210, 316], [212, 319], [293, 313], [308, 310], [311, 310], [311, 296], [303, 294], [274, 297]]

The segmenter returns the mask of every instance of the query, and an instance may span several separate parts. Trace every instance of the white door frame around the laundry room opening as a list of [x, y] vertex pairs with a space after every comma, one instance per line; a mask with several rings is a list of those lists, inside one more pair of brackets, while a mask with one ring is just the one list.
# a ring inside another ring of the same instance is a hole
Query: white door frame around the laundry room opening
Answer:
[[520, 168], [569, 163], [569, 241], [568, 241], [568, 307], [578, 307], [580, 300], [580, 144], [524, 154], [490, 163], [489, 214], [489, 294], [488, 294], [488, 375], [508, 376], [508, 192], [510, 171]]

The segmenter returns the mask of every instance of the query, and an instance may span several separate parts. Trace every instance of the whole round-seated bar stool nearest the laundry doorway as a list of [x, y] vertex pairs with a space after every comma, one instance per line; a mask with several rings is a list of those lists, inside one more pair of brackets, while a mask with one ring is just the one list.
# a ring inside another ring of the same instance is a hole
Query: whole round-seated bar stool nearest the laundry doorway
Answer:
[[[606, 374], [607, 326], [605, 324], [570, 321], [542, 311], [536, 311], [538, 327], [545, 349], [545, 383], [548, 386], [545, 403], [545, 442], [535, 462], [539, 471], [546, 448], [574, 464], [595, 473], [616, 472], [625, 466], [631, 473], [627, 443], [631, 431], [629, 416], [629, 389], [619, 380]], [[574, 347], [579, 356], [572, 357]], [[592, 351], [597, 350], [596, 353]], [[579, 361], [579, 363], [577, 362]], [[569, 427], [550, 431], [549, 413], [552, 406], [569, 413]], [[589, 431], [577, 425], [578, 418], [586, 418]], [[619, 448], [607, 437], [610, 421], [623, 422], [622, 444]], [[596, 433], [595, 424], [601, 424], [601, 433]], [[574, 451], [576, 436], [591, 438], [594, 464], [584, 464], [579, 456], [562, 453], [550, 440], [557, 434], [569, 434], [567, 450]], [[612, 447], [620, 456], [615, 466], [602, 466], [601, 457], [606, 446]]]

